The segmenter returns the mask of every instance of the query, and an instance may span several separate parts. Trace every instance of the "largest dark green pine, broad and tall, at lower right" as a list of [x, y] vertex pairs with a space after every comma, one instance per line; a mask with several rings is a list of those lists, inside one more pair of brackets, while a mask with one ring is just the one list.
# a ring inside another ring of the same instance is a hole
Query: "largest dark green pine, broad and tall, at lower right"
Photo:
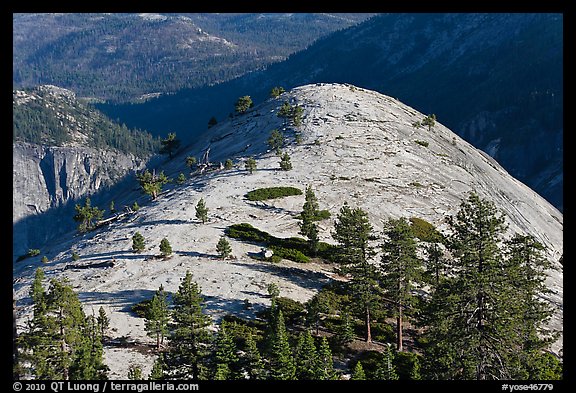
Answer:
[[528, 269], [518, 263], [525, 258], [516, 258], [521, 254], [515, 247], [505, 258], [501, 245], [505, 218], [492, 202], [475, 193], [448, 223], [451, 271], [434, 290], [424, 321], [427, 375], [516, 378], [523, 372], [528, 348], [542, 343], [530, 332], [539, 330], [547, 314], [533, 313], [539, 309], [537, 293], [523, 279], [522, 271]]

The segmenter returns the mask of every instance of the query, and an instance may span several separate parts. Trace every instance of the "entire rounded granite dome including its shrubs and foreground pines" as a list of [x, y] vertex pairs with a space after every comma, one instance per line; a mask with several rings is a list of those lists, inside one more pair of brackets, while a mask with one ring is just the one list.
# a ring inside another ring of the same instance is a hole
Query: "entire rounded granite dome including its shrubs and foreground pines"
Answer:
[[[238, 108], [15, 261], [16, 372], [562, 378], [556, 208], [376, 91], [318, 83]], [[139, 208], [95, 218], [119, 195]], [[44, 351], [44, 334], [69, 345]]]

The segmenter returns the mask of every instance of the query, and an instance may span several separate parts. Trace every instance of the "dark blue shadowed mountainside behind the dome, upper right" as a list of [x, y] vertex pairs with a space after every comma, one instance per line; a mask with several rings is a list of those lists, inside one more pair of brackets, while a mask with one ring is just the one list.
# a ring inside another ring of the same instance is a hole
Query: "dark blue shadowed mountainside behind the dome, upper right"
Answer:
[[266, 70], [142, 105], [102, 105], [127, 124], [183, 140], [222, 121], [239, 96], [341, 82], [434, 113], [513, 176], [563, 207], [562, 14], [384, 14]]

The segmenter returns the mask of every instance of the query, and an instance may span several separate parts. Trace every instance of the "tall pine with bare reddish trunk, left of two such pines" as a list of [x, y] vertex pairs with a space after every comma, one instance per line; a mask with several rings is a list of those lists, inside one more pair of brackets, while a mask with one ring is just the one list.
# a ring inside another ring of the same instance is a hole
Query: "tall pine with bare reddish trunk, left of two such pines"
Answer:
[[380, 290], [376, 268], [369, 262], [374, 251], [369, 244], [373, 235], [368, 214], [360, 208], [351, 209], [344, 203], [334, 223], [332, 237], [339, 246], [340, 270], [351, 276], [351, 295], [363, 314], [366, 342], [372, 342], [371, 312], [380, 301]]

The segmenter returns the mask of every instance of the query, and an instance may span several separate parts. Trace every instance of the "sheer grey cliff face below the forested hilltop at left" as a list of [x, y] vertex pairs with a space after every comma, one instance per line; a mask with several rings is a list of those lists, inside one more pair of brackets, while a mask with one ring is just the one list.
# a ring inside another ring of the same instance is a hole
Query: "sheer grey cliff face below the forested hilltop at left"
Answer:
[[14, 256], [72, 229], [75, 223], [70, 212], [75, 202], [92, 194], [95, 202], [105, 202], [98, 201], [103, 199], [99, 198], [99, 192], [112, 187], [129, 172], [142, 169], [145, 163], [133, 155], [110, 150], [15, 142]]

